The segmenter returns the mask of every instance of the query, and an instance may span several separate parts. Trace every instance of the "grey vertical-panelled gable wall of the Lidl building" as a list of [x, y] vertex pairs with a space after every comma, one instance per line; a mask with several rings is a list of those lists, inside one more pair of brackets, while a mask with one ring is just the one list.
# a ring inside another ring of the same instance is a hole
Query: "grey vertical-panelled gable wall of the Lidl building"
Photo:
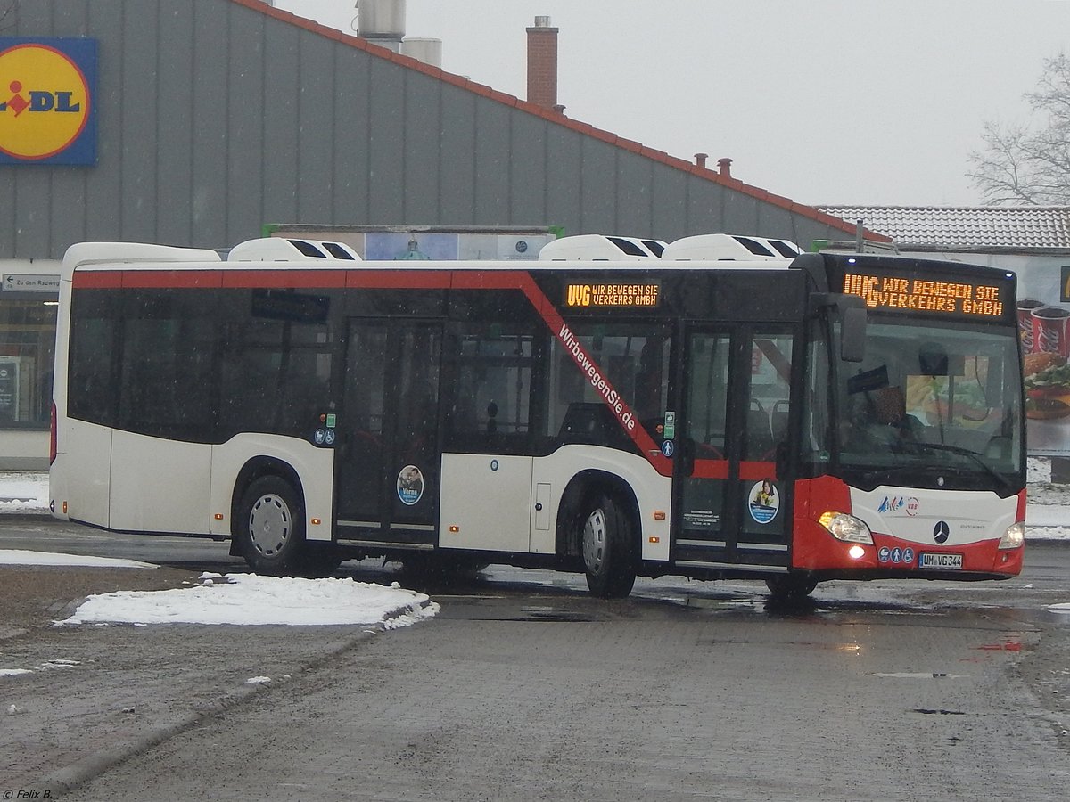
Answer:
[[21, 0], [3, 35], [98, 41], [98, 160], [0, 166], [0, 258], [82, 240], [226, 247], [265, 222], [845, 236], [265, 12]]

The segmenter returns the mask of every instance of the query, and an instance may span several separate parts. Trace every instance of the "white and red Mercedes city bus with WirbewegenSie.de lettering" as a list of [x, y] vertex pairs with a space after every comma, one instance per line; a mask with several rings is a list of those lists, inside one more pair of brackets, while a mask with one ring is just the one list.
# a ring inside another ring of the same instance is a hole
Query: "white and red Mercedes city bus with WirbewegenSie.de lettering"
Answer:
[[262, 572], [502, 562], [602, 597], [1021, 570], [1011, 273], [327, 245], [70, 248], [55, 514], [231, 538]]

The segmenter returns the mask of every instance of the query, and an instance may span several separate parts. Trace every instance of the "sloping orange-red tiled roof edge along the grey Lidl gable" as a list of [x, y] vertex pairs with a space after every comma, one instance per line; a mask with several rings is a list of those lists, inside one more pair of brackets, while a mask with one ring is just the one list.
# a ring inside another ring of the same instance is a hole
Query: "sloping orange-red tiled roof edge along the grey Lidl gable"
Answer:
[[[326, 36], [328, 38], [336, 40], [338, 42], [345, 43], [351, 47], [356, 47], [364, 50], [372, 56], [377, 56], [386, 61], [393, 61], [395, 64], [406, 66], [410, 70], [415, 70], [417, 72], [429, 75], [432, 78], [444, 81], [446, 83], [452, 83], [457, 87], [461, 87], [470, 92], [474, 92], [483, 97], [487, 97], [492, 101], [505, 104], [506, 106], [511, 106], [514, 108], [520, 109], [521, 111], [526, 111], [529, 113], [541, 117], [549, 120], [552, 123], [561, 125], [566, 128], [585, 134], [586, 136], [599, 139], [603, 142], [608, 142], [622, 150], [630, 151], [645, 158], [654, 159], [655, 161], [660, 161], [661, 164], [669, 165], [678, 170], [684, 170], [692, 175], [698, 175], [710, 181], [715, 184], [721, 184], [722, 186], [734, 189], [737, 192], [743, 192], [744, 195], [749, 195], [752, 198], [756, 198], [765, 203], [771, 203], [773, 205], [780, 206], [792, 214], [801, 215], [802, 217], [809, 217], [812, 220], [816, 220], [820, 223], [829, 226], [831, 228], [838, 228], [846, 233], [854, 234], [855, 225], [854, 222], [847, 222], [838, 218], [831, 213], [822, 212], [821, 210], [809, 206], [804, 203], [798, 203], [793, 201], [791, 198], [784, 198], [783, 196], [770, 192], [768, 189], [762, 189], [761, 187], [751, 186], [750, 184], [745, 184], [738, 179], [733, 179], [729, 175], [721, 175], [720, 172], [710, 170], [706, 167], [700, 167], [693, 161], [687, 159], [682, 159], [676, 156], [670, 156], [663, 151], [656, 150], [654, 148], [647, 148], [641, 142], [636, 142], [630, 139], [625, 139], [616, 134], [608, 130], [602, 130], [601, 128], [596, 128], [590, 123], [583, 123], [578, 120], [572, 120], [565, 117], [564, 114], [554, 111], [553, 109], [548, 109], [542, 106], [538, 106], [534, 103], [529, 103], [528, 101], [522, 101], [519, 97], [514, 97], [513, 95], [505, 94], [504, 92], [499, 92], [495, 89], [484, 86], [482, 83], [476, 83], [475, 81], [469, 80], [464, 76], [454, 75], [453, 73], [447, 73], [446, 71], [425, 64], [416, 59], [410, 58], [408, 56], [401, 56], [393, 50], [385, 47], [380, 47], [379, 45], [372, 44], [367, 40], [361, 38], [360, 36], [354, 36], [352, 34], [342, 33], [334, 28], [328, 28], [327, 26], [320, 25], [310, 19], [297, 16], [288, 11], [282, 11], [281, 9], [276, 9], [269, 5], [264, 0], [230, 0], [232, 3], [239, 5], [244, 5], [248, 9], [254, 9], [262, 14], [265, 14], [276, 19], [282, 19], [291, 25], [295, 25], [300, 28], [304, 28], [308, 31], [319, 33], [320, 35]], [[868, 228], [868, 227], [867, 227]], [[877, 242], [884, 242], [885, 237], [872, 230], [867, 231], [867, 237]]]

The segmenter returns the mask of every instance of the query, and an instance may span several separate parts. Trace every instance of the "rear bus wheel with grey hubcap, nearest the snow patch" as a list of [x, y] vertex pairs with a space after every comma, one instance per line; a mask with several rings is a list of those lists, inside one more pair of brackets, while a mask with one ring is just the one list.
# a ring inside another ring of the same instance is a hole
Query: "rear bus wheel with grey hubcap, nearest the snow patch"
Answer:
[[261, 476], [242, 494], [235, 519], [239, 546], [257, 573], [300, 573], [305, 567], [305, 505], [279, 476]]

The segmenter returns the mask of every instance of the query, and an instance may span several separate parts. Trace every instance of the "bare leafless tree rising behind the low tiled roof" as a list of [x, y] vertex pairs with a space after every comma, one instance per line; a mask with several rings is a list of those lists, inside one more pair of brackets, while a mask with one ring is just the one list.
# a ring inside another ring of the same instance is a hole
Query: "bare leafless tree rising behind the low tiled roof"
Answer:
[[1034, 125], [987, 122], [984, 150], [966, 173], [985, 203], [1070, 205], [1070, 58], [1044, 59], [1037, 89], [1024, 95]]

